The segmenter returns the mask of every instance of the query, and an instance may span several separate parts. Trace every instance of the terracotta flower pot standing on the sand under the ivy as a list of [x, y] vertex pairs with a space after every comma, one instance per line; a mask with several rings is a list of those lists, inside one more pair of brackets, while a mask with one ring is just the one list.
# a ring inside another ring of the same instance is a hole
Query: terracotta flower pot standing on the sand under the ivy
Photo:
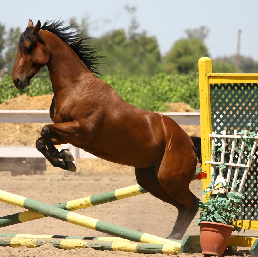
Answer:
[[234, 227], [218, 222], [201, 221], [200, 243], [203, 255], [222, 256]]

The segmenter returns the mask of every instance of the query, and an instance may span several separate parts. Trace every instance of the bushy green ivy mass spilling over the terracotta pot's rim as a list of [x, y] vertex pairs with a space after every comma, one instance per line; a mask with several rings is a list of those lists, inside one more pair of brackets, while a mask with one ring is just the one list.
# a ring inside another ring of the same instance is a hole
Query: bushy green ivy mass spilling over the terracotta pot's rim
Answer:
[[[200, 201], [199, 210], [200, 217], [197, 219], [197, 225], [201, 221], [219, 222], [234, 227], [236, 231], [240, 231], [240, 223], [237, 224], [237, 218], [240, 214], [240, 206], [243, 202], [243, 195], [237, 192], [225, 192], [212, 195], [214, 189], [215, 173], [211, 175], [211, 182], [207, 188], [202, 191], [202, 196], [207, 196], [207, 201]], [[237, 181], [237, 184], [239, 181]]]

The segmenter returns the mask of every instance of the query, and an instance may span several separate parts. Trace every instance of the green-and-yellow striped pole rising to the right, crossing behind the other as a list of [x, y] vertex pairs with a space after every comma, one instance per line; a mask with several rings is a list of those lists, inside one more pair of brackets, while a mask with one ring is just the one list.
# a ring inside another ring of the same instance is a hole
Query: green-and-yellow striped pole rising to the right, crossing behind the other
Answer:
[[[79, 209], [87, 208], [87, 207], [98, 205], [98, 204], [103, 204], [103, 203], [107, 203], [107, 202], [112, 202], [112, 201], [128, 198], [131, 196], [144, 194], [147, 192], [148, 191], [146, 191], [140, 185], [136, 184], [136, 185], [131, 185], [131, 186], [128, 186], [125, 188], [112, 190], [112, 191], [109, 191], [106, 193], [96, 194], [96, 195], [92, 195], [92, 196], [79, 198], [76, 200], [71, 200], [71, 201], [62, 202], [59, 204], [54, 204], [52, 206], [58, 207], [63, 210], [73, 211], [73, 210], [79, 210]], [[6, 226], [13, 225], [13, 224], [21, 223], [21, 222], [32, 221], [35, 219], [41, 219], [44, 217], [46, 217], [46, 215], [31, 211], [31, 210], [19, 212], [19, 213], [0, 217], [0, 227], [6, 227]]]

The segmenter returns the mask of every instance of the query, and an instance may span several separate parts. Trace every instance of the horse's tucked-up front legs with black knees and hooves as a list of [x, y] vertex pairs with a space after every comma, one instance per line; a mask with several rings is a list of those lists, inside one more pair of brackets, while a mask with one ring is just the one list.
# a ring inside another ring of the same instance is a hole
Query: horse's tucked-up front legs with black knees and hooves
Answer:
[[[76, 167], [71, 152], [67, 149], [59, 152], [54, 145], [73, 143], [79, 129], [80, 126], [75, 121], [45, 125], [40, 133], [41, 138], [36, 141], [36, 148], [54, 167], [75, 171]], [[59, 159], [62, 159], [62, 161]]]

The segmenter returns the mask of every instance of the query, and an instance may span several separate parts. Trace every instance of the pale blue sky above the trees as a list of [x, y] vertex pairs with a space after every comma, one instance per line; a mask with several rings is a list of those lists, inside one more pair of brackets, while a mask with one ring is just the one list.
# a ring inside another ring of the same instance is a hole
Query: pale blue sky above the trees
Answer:
[[210, 29], [205, 44], [210, 57], [236, 53], [237, 33], [241, 29], [240, 54], [258, 61], [258, 1], [256, 0], [44, 0], [2, 1], [0, 23], [7, 29], [20, 27], [23, 31], [28, 19], [38, 20], [82, 18], [90, 22], [90, 36], [130, 25], [130, 15], [124, 5], [136, 6], [140, 27], [148, 36], [157, 37], [162, 55], [176, 40], [186, 37], [186, 29], [207, 26]]

